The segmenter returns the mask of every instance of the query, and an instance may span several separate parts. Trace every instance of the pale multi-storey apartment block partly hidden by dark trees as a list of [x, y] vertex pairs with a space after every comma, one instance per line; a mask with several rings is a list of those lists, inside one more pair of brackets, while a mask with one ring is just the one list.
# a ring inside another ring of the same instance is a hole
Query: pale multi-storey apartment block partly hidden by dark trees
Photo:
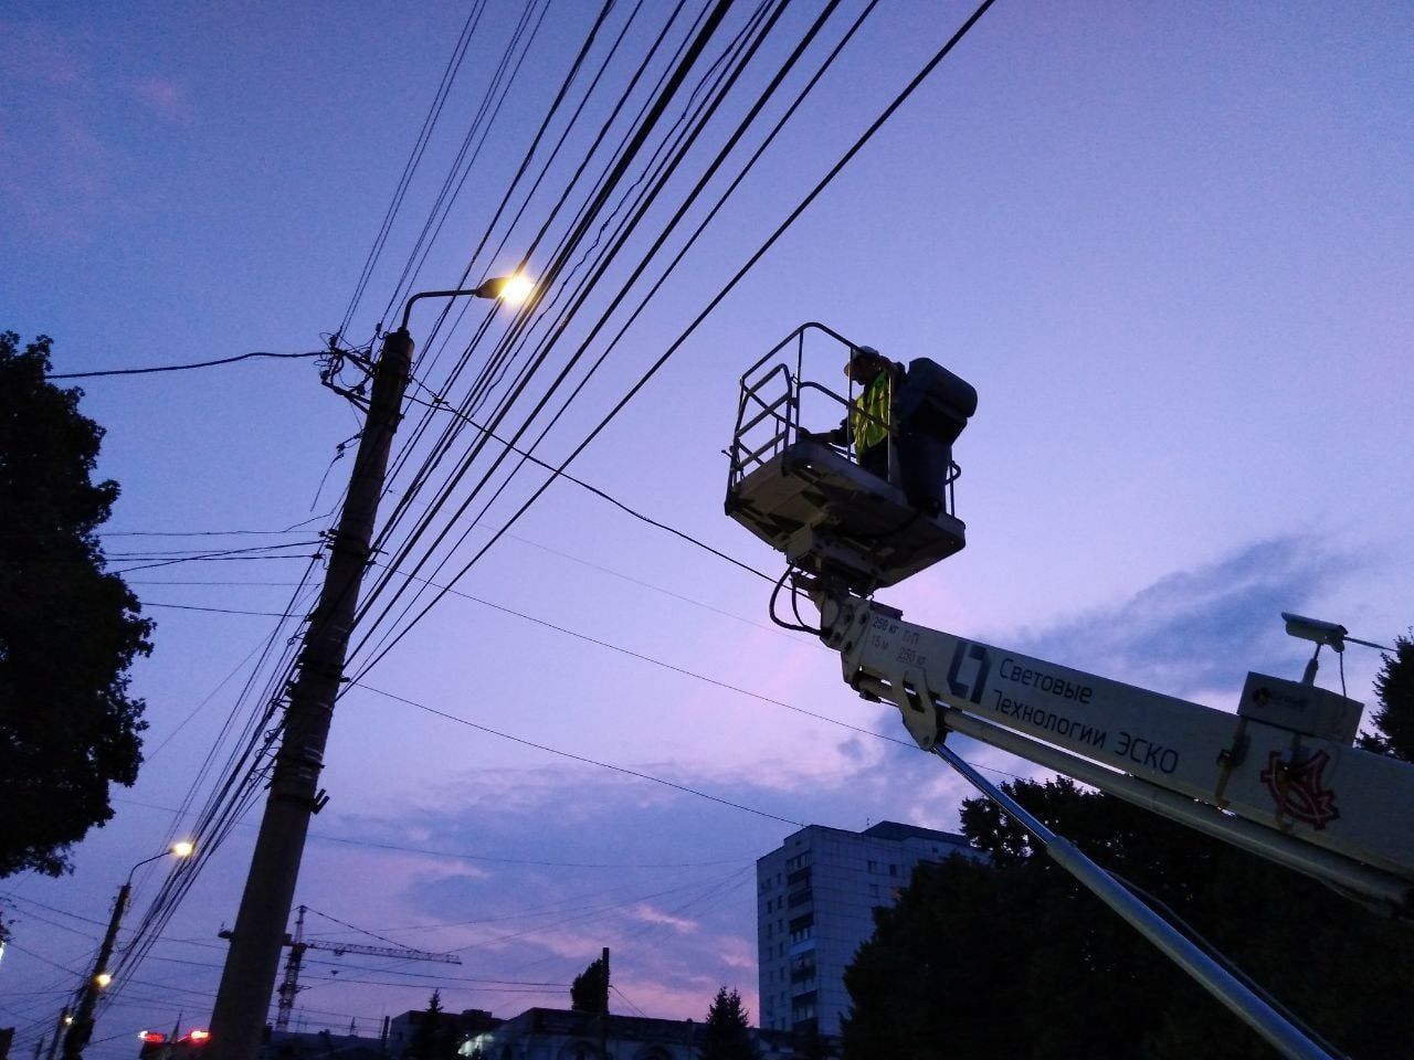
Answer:
[[764, 1030], [839, 1035], [844, 970], [921, 862], [980, 856], [962, 835], [881, 821], [863, 832], [807, 825], [756, 861]]

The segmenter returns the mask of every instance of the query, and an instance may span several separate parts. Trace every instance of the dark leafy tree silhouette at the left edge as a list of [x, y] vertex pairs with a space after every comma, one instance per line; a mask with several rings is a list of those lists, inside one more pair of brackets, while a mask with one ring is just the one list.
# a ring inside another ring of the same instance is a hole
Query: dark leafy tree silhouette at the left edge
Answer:
[[113, 817], [110, 783], [141, 763], [127, 670], [151, 652], [98, 540], [117, 483], [92, 482], [103, 428], [49, 383], [51, 339], [0, 334], [0, 878], [57, 876]]

